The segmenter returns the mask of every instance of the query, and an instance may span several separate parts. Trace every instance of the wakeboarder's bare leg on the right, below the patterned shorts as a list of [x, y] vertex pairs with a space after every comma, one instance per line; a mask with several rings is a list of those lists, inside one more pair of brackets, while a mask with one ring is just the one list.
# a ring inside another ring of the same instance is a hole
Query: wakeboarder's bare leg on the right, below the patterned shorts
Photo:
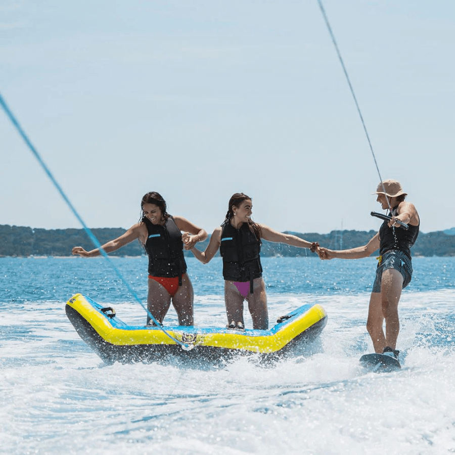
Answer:
[[381, 280], [381, 306], [386, 322], [386, 346], [392, 349], [396, 347], [396, 340], [400, 331], [398, 302], [400, 301], [402, 286], [403, 276], [398, 270], [388, 268], [383, 271]]

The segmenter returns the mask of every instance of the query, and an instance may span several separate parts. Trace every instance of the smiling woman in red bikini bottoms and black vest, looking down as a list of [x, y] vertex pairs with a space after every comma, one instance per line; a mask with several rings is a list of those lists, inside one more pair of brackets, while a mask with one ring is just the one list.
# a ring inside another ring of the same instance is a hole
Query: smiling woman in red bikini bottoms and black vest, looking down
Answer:
[[[111, 253], [138, 239], [149, 256], [148, 310], [162, 324], [172, 301], [178, 324], [193, 326], [194, 293], [187, 275], [183, 237], [185, 249], [191, 249], [197, 242], [205, 240], [207, 233], [181, 216], [169, 215], [166, 201], [159, 193], [144, 195], [141, 209], [140, 221], [102, 248], [106, 253]], [[98, 248], [85, 251], [82, 247], [74, 247], [72, 253], [84, 257], [101, 254]], [[147, 324], [154, 324], [150, 316], [147, 316]]]

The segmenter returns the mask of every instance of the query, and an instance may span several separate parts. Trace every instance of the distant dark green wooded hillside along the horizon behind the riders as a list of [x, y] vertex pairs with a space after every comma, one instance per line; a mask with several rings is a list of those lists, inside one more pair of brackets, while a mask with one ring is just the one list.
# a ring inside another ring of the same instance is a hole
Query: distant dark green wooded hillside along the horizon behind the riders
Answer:
[[[429, 234], [420, 233], [413, 247], [414, 256], [455, 256], [455, 228]], [[123, 228], [93, 229], [93, 234], [101, 244], [119, 237], [125, 232]], [[289, 232], [310, 242], [319, 242], [331, 249], [352, 248], [365, 245], [376, 231], [332, 231], [330, 234]], [[204, 250], [209, 239], [198, 244]], [[73, 246], [82, 246], [86, 250], [93, 249], [83, 229], [32, 229], [20, 226], [0, 224], [0, 256], [71, 256]], [[139, 242], [132, 242], [118, 251], [114, 256], [141, 256], [144, 249]], [[193, 256], [189, 251], [186, 255]], [[374, 253], [376, 254], [376, 253]], [[263, 241], [262, 256], [311, 256], [314, 253], [306, 249], [291, 247], [280, 243]]]

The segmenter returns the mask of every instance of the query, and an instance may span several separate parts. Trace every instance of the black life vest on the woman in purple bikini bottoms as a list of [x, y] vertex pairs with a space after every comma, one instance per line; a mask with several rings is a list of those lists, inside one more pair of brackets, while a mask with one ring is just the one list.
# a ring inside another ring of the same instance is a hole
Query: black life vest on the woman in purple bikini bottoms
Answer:
[[260, 260], [261, 241], [250, 231], [247, 223], [235, 229], [231, 223], [223, 225], [219, 252], [223, 258], [224, 280], [250, 282], [262, 277]]

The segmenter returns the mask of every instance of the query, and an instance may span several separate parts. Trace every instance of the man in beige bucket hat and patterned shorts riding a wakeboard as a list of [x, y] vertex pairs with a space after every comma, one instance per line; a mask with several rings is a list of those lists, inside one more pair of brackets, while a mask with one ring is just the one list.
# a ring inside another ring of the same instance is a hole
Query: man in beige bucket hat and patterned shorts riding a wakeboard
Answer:
[[404, 200], [407, 194], [397, 180], [382, 181], [372, 194], [378, 195], [376, 200], [391, 216], [382, 223], [379, 232], [366, 245], [338, 251], [321, 247], [317, 253], [321, 259], [359, 259], [371, 256], [379, 248], [367, 330], [375, 352], [398, 358], [398, 302], [401, 290], [411, 282], [411, 247], [419, 234], [420, 218], [414, 204]]

